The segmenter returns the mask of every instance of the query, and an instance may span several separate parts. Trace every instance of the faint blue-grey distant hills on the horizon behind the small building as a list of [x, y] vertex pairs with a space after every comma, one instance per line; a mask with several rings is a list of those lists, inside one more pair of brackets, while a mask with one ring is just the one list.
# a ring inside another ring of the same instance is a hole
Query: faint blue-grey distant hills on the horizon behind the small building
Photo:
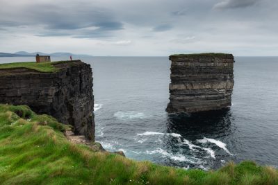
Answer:
[[0, 57], [33, 57], [35, 55], [50, 55], [53, 57], [69, 57], [72, 55], [73, 57], [91, 57], [91, 55], [78, 55], [74, 53], [66, 53], [66, 52], [56, 52], [56, 53], [42, 53], [42, 52], [34, 52], [28, 53], [26, 51], [18, 51], [15, 53], [3, 53], [0, 52]]

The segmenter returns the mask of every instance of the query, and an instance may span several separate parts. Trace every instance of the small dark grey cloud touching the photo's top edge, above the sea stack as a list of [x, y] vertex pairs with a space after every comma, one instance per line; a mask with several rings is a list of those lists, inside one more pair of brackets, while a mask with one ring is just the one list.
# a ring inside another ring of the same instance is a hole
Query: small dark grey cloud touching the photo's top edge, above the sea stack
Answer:
[[225, 9], [225, 8], [245, 8], [248, 6], [253, 6], [258, 1], [261, 0], [225, 0], [220, 3], [216, 3], [214, 8]]

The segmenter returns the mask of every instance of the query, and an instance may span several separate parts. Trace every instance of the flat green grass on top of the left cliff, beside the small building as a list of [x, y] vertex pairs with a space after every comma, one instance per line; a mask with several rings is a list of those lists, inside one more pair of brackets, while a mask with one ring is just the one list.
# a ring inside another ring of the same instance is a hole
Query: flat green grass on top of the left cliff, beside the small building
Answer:
[[13, 62], [8, 64], [0, 64], [0, 69], [15, 69], [15, 68], [27, 68], [33, 69], [40, 72], [56, 72], [59, 71], [58, 67], [55, 67], [54, 64], [59, 64], [63, 62], [70, 62], [70, 61], [59, 61], [59, 62]]

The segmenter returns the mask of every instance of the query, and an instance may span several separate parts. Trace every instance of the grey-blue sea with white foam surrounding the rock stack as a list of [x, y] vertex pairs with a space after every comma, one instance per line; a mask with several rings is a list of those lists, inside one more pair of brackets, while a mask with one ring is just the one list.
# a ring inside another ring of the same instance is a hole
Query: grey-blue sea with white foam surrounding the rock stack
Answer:
[[278, 58], [236, 58], [231, 108], [191, 116], [165, 112], [167, 57], [82, 60], [93, 67], [96, 140], [107, 150], [182, 168], [246, 159], [278, 167]]

